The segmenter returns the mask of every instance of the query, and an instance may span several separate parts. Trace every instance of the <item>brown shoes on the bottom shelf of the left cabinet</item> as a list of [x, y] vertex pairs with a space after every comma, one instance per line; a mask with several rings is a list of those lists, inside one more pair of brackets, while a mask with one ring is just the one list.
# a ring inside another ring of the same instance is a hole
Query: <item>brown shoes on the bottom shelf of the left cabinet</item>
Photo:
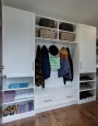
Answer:
[[14, 115], [15, 111], [16, 111], [16, 106], [15, 106], [15, 105], [8, 106], [8, 107], [3, 111], [3, 116]]

